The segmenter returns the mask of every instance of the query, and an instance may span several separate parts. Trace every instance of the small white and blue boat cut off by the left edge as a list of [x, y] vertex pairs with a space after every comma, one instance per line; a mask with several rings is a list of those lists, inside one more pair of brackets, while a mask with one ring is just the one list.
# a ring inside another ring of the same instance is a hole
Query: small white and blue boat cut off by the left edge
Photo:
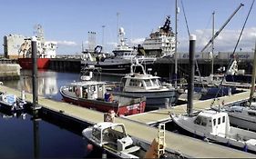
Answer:
[[0, 106], [9, 112], [23, 110], [25, 104], [25, 94], [23, 95], [23, 98], [19, 98], [15, 94], [0, 92]]

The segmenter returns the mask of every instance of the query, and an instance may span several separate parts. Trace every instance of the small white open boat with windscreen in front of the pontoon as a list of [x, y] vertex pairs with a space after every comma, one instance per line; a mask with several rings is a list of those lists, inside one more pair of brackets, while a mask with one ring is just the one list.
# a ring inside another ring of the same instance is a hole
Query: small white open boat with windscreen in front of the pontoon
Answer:
[[90, 143], [104, 148], [108, 154], [118, 158], [141, 158], [146, 154], [146, 151], [128, 136], [124, 124], [98, 123], [84, 129], [82, 134]]

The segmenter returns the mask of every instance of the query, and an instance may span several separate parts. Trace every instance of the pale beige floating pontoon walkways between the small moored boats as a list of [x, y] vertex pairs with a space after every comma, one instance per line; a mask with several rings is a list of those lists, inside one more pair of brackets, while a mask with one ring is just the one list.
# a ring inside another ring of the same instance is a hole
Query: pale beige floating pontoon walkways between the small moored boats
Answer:
[[[8, 94], [20, 95], [20, 92], [8, 88], [5, 86], [0, 86], [0, 91], [5, 90]], [[227, 102], [234, 101], [233, 98], [244, 99], [249, 96], [249, 92], [242, 93], [240, 97], [237, 95], [229, 96], [224, 100]], [[26, 100], [32, 101], [32, 94], [26, 94]], [[232, 99], [232, 100], [231, 100]], [[38, 103], [43, 107], [46, 107], [56, 113], [66, 114], [67, 116], [74, 117], [80, 121], [87, 122], [88, 124], [97, 124], [103, 122], [104, 114], [79, 107], [72, 104], [62, 103], [46, 99], [44, 97], [38, 98]], [[196, 102], [195, 107], [197, 109], [203, 109], [210, 104], [211, 101]], [[116, 123], [123, 123], [126, 125], [129, 135], [137, 137], [141, 141], [146, 141], [151, 143], [154, 138], [158, 136], [158, 129], [152, 126], [149, 126], [149, 122], [154, 120], [162, 120], [162, 118], [169, 117], [169, 111], [179, 114], [184, 113], [184, 105], [176, 106], [175, 108], [170, 108], [167, 110], [159, 110], [154, 112], [149, 112], [147, 114], [134, 115], [126, 118], [116, 118]], [[138, 117], [143, 116], [143, 117]], [[136, 118], [135, 118], [136, 117]], [[142, 124], [144, 123], [144, 124]], [[191, 138], [189, 136], [184, 136], [182, 134], [175, 134], [169, 131], [166, 131], [166, 147], [169, 152], [179, 152], [186, 157], [210, 157], [210, 158], [256, 158], [255, 154], [245, 153], [239, 150], [232, 149], [230, 147], [222, 146], [219, 144], [209, 144], [201, 140]]]

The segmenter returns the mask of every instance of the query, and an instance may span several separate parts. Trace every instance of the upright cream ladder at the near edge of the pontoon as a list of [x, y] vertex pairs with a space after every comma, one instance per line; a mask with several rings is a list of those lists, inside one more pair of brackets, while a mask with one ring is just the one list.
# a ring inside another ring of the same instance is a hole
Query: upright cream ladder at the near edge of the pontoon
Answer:
[[158, 157], [161, 154], [165, 154], [165, 124], [159, 124], [159, 135], [158, 135]]

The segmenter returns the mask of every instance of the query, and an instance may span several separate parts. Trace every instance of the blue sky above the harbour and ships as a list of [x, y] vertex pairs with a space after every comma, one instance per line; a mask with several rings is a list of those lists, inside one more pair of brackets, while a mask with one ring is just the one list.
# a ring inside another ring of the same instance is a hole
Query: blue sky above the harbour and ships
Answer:
[[[152, 31], [163, 25], [170, 15], [174, 29], [175, 0], [0, 0], [0, 35], [18, 34], [32, 36], [34, 26], [44, 28], [46, 40], [58, 42], [57, 54], [81, 52], [82, 42], [87, 46], [87, 32], [96, 32], [97, 44], [107, 51], [117, 45], [117, 27], [124, 27], [130, 45], [141, 44]], [[215, 30], [230, 17], [242, 3], [244, 6], [216, 39], [216, 51], [232, 51], [241, 27], [249, 12], [252, 0], [182, 0], [189, 22], [189, 32], [197, 35], [197, 50], [209, 41], [211, 13], [215, 11]], [[186, 52], [189, 43], [184, 15], [179, 4], [178, 49]], [[242, 35], [243, 51], [251, 51], [256, 40], [256, 6], [253, 6], [246, 29]], [[119, 15], [117, 16], [117, 13]], [[3, 44], [3, 38], [1, 40]], [[3, 47], [0, 53], [3, 53]]]

